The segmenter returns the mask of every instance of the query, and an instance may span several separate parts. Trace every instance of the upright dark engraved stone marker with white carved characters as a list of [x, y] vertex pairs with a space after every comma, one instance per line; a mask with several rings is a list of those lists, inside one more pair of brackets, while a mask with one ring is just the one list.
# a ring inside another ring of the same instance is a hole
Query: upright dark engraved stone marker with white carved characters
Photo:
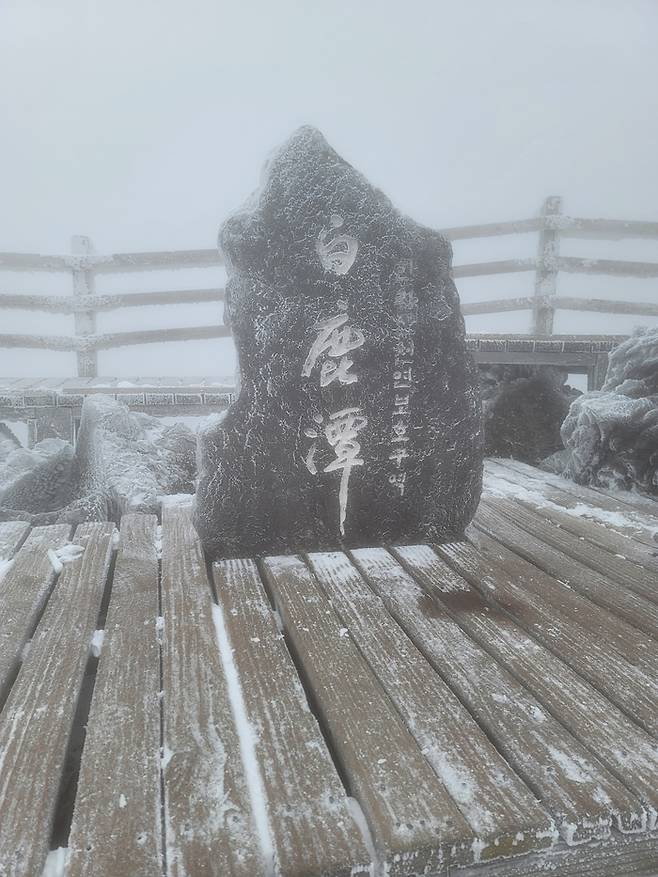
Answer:
[[448, 241], [301, 128], [220, 248], [241, 389], [201, 436], [210, 554], [459, 538], [482, 432]]

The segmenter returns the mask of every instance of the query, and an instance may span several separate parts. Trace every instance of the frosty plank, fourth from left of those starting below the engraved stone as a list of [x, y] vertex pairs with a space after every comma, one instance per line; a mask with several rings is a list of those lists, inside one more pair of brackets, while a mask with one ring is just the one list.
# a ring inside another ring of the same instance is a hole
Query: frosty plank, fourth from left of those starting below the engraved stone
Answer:
[[[405, 562], [412, 551], [405, 549]], [[615, 818], [629, 828], [642, 823], [645, 814], [639, 800], [476, 644], [388, 551], [359, 549], [352, 556], [417, 648], [552, 814], [566, 843], [609, 837]], [[472, 598], [465, 582], [457, 596], [466, 610]]]

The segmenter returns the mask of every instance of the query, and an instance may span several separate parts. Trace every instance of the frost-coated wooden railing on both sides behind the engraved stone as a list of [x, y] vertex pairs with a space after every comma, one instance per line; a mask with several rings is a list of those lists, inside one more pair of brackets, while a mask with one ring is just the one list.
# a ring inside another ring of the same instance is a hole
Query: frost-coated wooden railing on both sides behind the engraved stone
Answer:
[[[539, 245], [535, 259], [506, 259], [456, 265], [453, 269], [453, 275], [455, 278], [462, 278], [534, 272], [534, 294], [520, 298], [486, 299], [463, 303], [462, 312], [465, 316], [531, 310], [533, 312], [532, 334], [535, 337], [546, 337], [553, 334], [553, 320], [558, 309], [658, 316], [658, 296], [656, 296], [656, 301], [652, 303], [609, 301], [594, 297], [575, 298], [557, 294], [559, 272], [658, 278], [658, 262], [560, 256], [561, 238], [577, 237], [596, 240], [646, 238], [658, 240], [658, 222], [574, 218], [561, 212], [561, 199], [559, 197], [551, 197], [544, 202], [541, 214], [532, 219], [444, 229], [444, 234], [452, 241], [528, 232], [537, 232], [538, 234]], [[93, 251], [91, 241], [86, 237], [74, 237], [71, 254], [65, 256], [0, 253], [0, 271], [4, 269], [7, 271], [65, 272], [70, 273], [72, 278], [72, 295], [70, 297], [0, 292], [0, 311], [3, 309], [45, 311], [71, 314], [74, 317], [74, 334], [71, 336], [0, 333], [0, 348], [21, 347], [73, 351], [77, 354], [78, 376], [94, 377], [97, 374], [97, 352], [99, 350], [133, 344], [191, 341], [229, 336], [230, 330], [220, 324], [130, 332], [99, 333], [96, 331], [96, 314], [102, 311], [145, 305], [221, 302], [224, 299], [222, 288], [99, 295], [95, 293], [97, 276], [162, 269], [207, 268], [221, 264], [220, 254], [216, 250], [117, 253], [104, 256]]]

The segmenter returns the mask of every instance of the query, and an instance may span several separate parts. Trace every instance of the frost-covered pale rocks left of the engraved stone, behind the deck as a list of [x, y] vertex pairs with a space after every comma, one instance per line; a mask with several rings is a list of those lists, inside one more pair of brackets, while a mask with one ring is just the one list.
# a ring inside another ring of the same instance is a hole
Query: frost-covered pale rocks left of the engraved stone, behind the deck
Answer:
[[160, 495], [193, 490], [195, 456], [196, 436], [188, 427], [166, 426], [108, 396], [90, 396], [75, 451], [48, 439], [34, 451], [9, 455], [5, 467], [15, 472], [23, 461], [36, 462], [26, 462], [4, 489], [0, 480], [0, 519], [78, 523], [155, 512]]

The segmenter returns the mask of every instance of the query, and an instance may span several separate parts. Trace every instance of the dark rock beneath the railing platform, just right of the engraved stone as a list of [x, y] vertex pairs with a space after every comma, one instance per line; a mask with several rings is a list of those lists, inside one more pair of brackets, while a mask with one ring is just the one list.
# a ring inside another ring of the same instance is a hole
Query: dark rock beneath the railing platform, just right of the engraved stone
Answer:
[[552, 366], [488, 365], [480, 369], [485, 452], [538, 464], [561, 450], [560, 428], [577, 390]]

